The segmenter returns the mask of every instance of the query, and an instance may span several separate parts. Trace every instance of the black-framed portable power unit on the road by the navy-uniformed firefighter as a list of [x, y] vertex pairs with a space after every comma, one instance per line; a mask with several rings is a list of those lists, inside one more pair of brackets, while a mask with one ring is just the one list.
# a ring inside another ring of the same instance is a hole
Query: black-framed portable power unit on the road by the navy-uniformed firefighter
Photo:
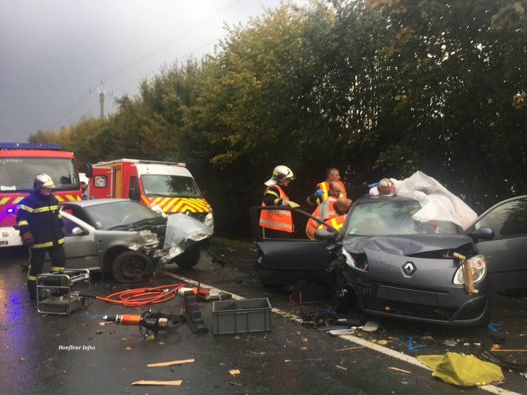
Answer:
[[36, 276], [39, 313], [68, 315], [90, 305], [89, 270], [64, 270]]

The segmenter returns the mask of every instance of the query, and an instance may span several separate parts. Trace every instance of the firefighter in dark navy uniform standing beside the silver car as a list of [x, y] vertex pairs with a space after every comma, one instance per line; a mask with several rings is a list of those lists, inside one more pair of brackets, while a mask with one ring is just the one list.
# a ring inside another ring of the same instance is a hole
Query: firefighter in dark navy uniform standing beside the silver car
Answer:
[[47, 174], [38, 174], [33, 191], [21, 200], [16, 222], [24, 246], [30, 248], [30, 268], [27, 272], [27, 290], [36, 299], [36, 276], [42, 273], [46, 252], [51, 259], [50, 272], [64, 270], [65, 226], [58, 211], [58, 200], [51, 194], [55, 184]]

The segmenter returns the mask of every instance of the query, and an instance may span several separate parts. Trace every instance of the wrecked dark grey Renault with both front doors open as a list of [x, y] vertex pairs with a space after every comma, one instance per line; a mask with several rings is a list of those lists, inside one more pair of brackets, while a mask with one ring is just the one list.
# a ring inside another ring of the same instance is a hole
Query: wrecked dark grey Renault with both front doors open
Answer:
[[[318, 230], [316, 241], [262, 239], [261, 208], [253, 208], [257, 274], [266, 285], [306, 280], [338, 295], [353, 292], [375, 315], [487, 324], [495, 290], [527, 287], [527, 196], [496, 204], [465, 231], [452, 222], [412, 219], [419, 208], [408, 197], [364, 197], [354, 202], [340, 235]], [[467, 291], [469, 275], [473, 290]]]

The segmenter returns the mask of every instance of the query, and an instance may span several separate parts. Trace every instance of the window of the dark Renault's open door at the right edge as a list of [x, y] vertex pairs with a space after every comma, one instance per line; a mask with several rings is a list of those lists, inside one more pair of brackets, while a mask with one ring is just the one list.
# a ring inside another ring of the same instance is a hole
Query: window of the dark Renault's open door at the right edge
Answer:
[[476, 229], [488, 226], [495, 239], [527, 235], [527, 197], [500, 204], [475, 224]]

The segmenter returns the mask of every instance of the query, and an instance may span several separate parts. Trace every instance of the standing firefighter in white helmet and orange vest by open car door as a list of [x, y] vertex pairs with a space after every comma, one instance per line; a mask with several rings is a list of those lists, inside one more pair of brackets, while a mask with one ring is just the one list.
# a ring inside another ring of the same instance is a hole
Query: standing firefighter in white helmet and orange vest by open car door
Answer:
[[[294, 180], [294, 174], [289, 167], [283, 165], [274, 167], [272, 177], [265, 182], [267, 189], [261, 205], [299, 207], [300, 204], [289, 200], [284, 191], [291, 180]], [[264, 238], [290, 239], [294, 231], [293, 217], [289, 210], [262, 210], [259, 224]]]

